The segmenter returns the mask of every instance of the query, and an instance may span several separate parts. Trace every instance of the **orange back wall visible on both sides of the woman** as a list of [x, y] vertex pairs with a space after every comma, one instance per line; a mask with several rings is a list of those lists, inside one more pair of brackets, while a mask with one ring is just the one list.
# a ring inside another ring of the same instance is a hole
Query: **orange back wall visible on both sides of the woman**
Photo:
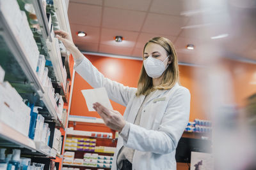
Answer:
[[[104, 76], [111, 80], [118, 81], [129, 87], [137, 87], [138, 78], [140, 76], [140, 69], [142, 61], [140, 60], [128, 60], [128, 59], [115, 59], [110, 57], [100, 57], [86, 55], [92, 64], [104, 74]], [[190, 120], [195, 118], [205, 118], [205, 115], [200, 107], [201, 99], [198, 96], [198, 91], [195, 87], [199, 85], [193, 79], [193, 71], [199, 69], [190, 66], [180, 67], [180, 83], [182, 86], [187, 87], [191, 92], [191, 113]], [[81, 115], [87, 117], [99, 117], [96, 112], [89, 112], [86, 106], [83, 94], [81, 90], [92, 89], [92, 87], [83, 78], [76, 73], [74, 80], [74, 90], [72, 96], [72, 103], [70, 109], [70, 115]], [[125, 107], [111, 101], [114, 110], [124, 113]]]

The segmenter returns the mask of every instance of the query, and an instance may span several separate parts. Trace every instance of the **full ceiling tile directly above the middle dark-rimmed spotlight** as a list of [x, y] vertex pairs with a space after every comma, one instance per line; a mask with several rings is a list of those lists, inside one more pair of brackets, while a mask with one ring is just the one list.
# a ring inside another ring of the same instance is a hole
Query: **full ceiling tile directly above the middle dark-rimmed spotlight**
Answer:
[[102, 27], [140, 31], [146, 13], [141, 11], [104, 8]]

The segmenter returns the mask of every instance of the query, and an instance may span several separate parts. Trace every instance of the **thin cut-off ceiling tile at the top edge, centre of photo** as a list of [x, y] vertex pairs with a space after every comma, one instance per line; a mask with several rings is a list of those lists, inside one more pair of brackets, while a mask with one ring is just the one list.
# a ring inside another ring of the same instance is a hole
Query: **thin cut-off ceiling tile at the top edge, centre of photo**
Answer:
[[108, 7], [122, 8], [125, 10], [147, 11], [150, 1], [148, 0], [105, 0], [104, 5]]

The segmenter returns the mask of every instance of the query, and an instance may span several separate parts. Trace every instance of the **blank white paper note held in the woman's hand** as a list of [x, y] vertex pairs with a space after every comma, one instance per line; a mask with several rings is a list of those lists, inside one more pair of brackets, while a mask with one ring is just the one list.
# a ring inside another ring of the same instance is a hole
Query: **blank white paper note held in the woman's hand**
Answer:
[[81, 90], [81, 92], [83, 93], [89, 111], [95, 111], [93, 109], [93, 103], [96, 102], [102, 104], [102, 106], [105, 106], [109, 110], [113, 110], [105, 87]]

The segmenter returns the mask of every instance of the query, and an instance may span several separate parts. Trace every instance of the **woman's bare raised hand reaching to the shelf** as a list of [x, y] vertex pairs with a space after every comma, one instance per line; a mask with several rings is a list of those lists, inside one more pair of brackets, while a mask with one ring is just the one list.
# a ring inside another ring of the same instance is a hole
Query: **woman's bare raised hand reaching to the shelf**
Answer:
[[76, 46], [73, 43], [73, 40], [71, 36], [68, 34], [68, 32], [57, 30], [54, 31], [56, 34], [56, 38], [58, 38], [60, 41], [62, 41], [63, 45], [67, 48], [67, 50], [71, 50], [72, 48], [76, 48]]

